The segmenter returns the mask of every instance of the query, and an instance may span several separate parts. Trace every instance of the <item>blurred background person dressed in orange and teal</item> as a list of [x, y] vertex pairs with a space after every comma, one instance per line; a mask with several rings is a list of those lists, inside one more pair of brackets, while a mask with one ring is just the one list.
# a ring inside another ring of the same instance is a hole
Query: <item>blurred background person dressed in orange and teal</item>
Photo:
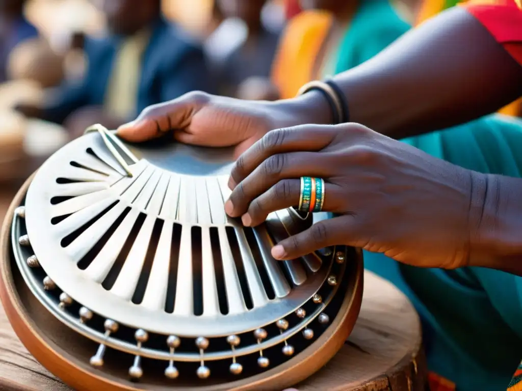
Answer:
[[281, 99], [314, 79], [354, 68], [410, 29], [390, 0], [301, 0], [272, 73]]

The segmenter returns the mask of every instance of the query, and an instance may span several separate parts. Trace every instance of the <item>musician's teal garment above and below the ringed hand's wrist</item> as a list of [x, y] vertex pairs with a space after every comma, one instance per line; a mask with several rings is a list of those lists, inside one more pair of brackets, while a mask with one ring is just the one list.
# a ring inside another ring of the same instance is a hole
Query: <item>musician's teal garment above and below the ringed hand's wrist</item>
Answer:
[[[518, 118], [492, 115], [402, 141], [478, 172], [522, 172]], [[522, 357], [522, 277], [480, 267], [417, 268], [369, 252], [364, 263], [413, 302], [431, 371], [456, 383], [457, 391], [507, 388]]]

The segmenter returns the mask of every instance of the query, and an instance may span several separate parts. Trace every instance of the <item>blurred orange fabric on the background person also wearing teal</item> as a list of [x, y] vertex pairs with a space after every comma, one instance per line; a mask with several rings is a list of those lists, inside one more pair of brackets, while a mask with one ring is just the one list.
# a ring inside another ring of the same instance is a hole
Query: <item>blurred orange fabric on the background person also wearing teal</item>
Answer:
[[288, 23], [272, 66], [272, 82], [281, 99], [294, 97], [303, 84], [313, 79], [315, 58], [331, 23], [332, 17], [322, 11], [302, 11]]

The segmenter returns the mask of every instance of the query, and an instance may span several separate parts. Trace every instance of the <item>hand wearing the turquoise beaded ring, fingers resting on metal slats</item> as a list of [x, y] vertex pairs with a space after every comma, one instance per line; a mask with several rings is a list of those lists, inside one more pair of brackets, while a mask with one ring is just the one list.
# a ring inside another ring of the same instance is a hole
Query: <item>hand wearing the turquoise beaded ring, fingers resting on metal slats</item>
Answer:
[[240, 156], [225, 210], [256, 226], [299, 204], [295, 178], [323, 178], [323, 210], [337, 217], [281, 241], [274, 258], [348, 245], [411, 265], [455, 268], [468, 263], [479, 225], [480, 207], [471, 207], [479, 175], [358, 124], [306, 125], [271, 131]]

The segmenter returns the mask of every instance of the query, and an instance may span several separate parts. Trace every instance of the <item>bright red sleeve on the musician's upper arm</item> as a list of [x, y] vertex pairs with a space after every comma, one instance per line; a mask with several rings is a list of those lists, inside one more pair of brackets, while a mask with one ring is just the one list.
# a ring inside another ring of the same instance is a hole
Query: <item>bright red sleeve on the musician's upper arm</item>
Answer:
[[522, 65], [522, 9], [515, 0], [478, 0], [462, 5]]

